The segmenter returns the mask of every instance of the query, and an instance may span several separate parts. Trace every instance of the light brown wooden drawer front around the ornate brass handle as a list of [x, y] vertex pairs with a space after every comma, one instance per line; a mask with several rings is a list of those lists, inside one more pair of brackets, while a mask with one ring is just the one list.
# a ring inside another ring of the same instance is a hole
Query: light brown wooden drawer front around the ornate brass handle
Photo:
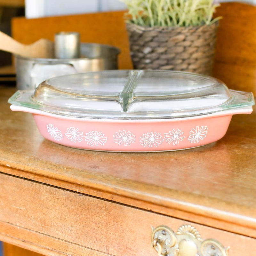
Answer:
[[[166, 225], [177, 231], [189, 224], [6, 174], [0, 174], [0, 209], [0, 240], [29, 245], [45, 255], [156, 256], [151, 226]], [[255, 256], [256, 239], [190, 224], [203, 238], [230, 246], [230, 256]]]

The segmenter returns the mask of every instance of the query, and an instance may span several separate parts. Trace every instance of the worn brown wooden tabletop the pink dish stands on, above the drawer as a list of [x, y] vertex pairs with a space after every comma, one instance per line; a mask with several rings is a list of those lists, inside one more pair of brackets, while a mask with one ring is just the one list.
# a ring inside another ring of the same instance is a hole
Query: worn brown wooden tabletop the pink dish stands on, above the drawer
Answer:
[[30, 114], [9, 109], [13, 92], [0, 89], [2, 172], [256, 237], [255, 114], [201, 148], [96, 152], [44, 140]]

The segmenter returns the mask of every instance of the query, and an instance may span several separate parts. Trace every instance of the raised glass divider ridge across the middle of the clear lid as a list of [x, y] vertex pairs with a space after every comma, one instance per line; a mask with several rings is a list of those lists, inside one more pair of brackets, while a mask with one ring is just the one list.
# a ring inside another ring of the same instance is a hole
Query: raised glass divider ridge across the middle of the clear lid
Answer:
[[129, 79], [124, 85], [123, 91], [119, 94], [120, 102], [122, 102], [123, 112], [127, 112], [129, 105], [131, 104], [134, 94], [134, 88], [138, 84], [138, 80], [143, 74], [143, 70], [131, 70], [129, 73]]

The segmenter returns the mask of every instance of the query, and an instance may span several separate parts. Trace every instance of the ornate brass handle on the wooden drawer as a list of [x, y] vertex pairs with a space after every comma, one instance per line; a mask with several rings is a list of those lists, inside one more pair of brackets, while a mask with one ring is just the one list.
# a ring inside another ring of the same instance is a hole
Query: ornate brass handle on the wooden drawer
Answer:
[[225, 248], [215, 239], [203, 240], [191, 225], [182, 225], [175, 233], [171, 228], [152, 228], [151, 242], [158, 256], [228, 256]]

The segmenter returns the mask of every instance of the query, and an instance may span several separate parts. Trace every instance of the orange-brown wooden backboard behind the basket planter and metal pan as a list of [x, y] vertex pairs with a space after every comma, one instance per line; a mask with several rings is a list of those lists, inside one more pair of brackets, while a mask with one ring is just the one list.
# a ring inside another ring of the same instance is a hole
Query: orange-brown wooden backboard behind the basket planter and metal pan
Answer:
[[[215, 16], [223, 19], [217, 36], [213, 76], [223, 80], [230, 89], [256, 95], [256, 6], [221, 3]], [[19, 17], [12, 21], [12, 36], [24, 44], [42, 37], [53, 40], [54, 33], [61, 30], [80, 32], [82, 42], [119, 47], [119, 68], [132, 68], [123, 11], [40, 19]]]

